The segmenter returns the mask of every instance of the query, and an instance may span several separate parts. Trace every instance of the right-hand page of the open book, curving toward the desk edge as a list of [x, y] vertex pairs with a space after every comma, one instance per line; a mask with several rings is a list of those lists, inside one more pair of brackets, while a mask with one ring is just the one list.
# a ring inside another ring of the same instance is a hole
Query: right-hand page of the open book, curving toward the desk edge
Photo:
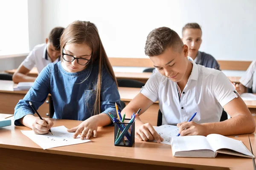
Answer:
[[207, 136], [209, 144], [212, 146], [214, 151], [219, 149], [230, 149], [244, 155], [253, 156], [252, 153], [244, 146], [244, 144], [236, 139], [232, 139], [219, 134], [210, 134]]

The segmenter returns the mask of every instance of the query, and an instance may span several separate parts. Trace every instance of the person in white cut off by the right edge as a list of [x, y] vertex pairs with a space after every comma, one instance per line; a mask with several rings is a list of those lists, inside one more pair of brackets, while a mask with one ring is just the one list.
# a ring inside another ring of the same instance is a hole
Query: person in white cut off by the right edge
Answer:
[[252, 93], [256, 93], [256, 61], [250, 64], [240, 83], [236, 84], [236, 91], [239, 94], [246, 93], [247, 88], [251, 88]]

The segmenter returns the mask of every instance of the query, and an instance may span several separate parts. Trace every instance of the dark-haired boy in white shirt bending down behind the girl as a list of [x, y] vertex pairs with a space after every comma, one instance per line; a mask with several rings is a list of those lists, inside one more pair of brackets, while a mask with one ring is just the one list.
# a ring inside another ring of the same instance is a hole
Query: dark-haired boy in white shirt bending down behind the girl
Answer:
[[12, 80], [15, 83], [34, 82], [36, 77], [27, 75], [33, 67], [37, 68], [39, 74], [47, 64], [59, 61], [61, 55], [60, 37], [63, 30], [64, 28], [62, 27], [53, 28], [48, 38], [45, 39], [45, 43], [36, 45], [33, 48], [13, 74]]

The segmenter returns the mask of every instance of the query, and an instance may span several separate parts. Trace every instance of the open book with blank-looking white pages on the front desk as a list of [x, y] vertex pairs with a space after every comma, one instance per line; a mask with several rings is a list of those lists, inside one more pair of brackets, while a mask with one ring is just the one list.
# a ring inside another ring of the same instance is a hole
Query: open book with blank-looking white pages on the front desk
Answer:
[[215, 158], [217, 153], [254, 158], [253, 154], [236, 139], [218, 134], [205, 136], [174, 136], [171, 139], [172, 155], [177, 157]]

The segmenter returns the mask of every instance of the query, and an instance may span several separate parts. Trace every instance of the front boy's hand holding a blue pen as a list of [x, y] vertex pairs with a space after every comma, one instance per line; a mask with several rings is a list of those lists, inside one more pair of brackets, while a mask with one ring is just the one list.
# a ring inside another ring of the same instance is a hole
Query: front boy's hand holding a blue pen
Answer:
[[180, 136], [202, 135], [207, 136], [207, 128], [203, 124], [198, 124], [193, 121], [178, 123]]

